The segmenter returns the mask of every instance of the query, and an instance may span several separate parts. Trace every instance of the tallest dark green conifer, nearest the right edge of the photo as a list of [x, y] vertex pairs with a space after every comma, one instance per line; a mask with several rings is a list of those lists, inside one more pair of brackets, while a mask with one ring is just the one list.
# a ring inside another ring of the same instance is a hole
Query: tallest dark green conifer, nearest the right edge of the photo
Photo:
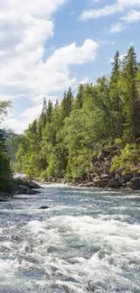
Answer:
[[134, 47], [130, 47], [123, 62], [123, 73], [126, 79], [126, 95], [124, 98], [125, 136], [129, 142], [135, 142], [140, 129], [140, 102], [136, 88], [136, 55]]

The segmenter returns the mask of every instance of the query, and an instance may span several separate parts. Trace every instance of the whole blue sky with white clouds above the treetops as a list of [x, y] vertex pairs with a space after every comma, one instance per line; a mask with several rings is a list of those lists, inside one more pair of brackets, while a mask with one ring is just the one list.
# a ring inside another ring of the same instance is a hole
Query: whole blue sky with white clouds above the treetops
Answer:
[[0, 100], [13, 112], [3, 126], [23, 133], [42, 98], [109, 74], [117, 49], [140, 60], [140, 0], [1, 0]]

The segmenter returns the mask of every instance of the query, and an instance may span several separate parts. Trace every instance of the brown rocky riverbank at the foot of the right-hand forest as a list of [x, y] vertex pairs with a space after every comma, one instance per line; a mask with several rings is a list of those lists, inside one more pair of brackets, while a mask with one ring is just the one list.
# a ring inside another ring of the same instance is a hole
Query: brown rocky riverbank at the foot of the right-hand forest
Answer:
[[[112, 159], [117, 155], [116, 146], [99, 152], [93, 158], [93, 173], [86, 178], [78, 177], [74, 180], [49, 178], [43, 181], [45, 184], [63, 183], [79, 188], [131, 188], [140, 189], [140, 166], [133, 166], [132, 170], [126, 172], [124, 169], [117, 169], [111, 172]], [[135, 167], [135, 168], [134, 168]]]

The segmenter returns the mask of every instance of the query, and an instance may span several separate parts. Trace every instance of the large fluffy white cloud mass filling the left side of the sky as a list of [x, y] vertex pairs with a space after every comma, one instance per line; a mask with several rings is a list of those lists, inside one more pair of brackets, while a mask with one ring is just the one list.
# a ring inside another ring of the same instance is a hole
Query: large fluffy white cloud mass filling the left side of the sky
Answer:
[[[70, 64], [94, 60], [98, 43], [86, 40], [51, 51], [45, 60], [46, 43], [53, 37], [53, 14], [70, 0], [1, 0], [0, 1], [0, 99], [28, 96], [33, 108], [17, 118], [8, 118], [19, 132], [41, 110], [41, 97], [52, 100], [58, 91], [76, 83], [70, 76]], [[31, 114], [32, 113], [32, 114]]]

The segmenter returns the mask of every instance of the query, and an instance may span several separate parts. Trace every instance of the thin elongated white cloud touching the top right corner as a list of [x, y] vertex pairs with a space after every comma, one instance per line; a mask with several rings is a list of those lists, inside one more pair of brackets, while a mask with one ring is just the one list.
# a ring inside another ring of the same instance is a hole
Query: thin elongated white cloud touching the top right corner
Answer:
[[140, 0], [117, 0], [114, 5], [106, 5], [99, 9], [89, 9], [82, 12], [80, 19], [87, 21], [91, 18], [99, 18], [103, 16], [124, 12], [127, 8], [140, 6]]

